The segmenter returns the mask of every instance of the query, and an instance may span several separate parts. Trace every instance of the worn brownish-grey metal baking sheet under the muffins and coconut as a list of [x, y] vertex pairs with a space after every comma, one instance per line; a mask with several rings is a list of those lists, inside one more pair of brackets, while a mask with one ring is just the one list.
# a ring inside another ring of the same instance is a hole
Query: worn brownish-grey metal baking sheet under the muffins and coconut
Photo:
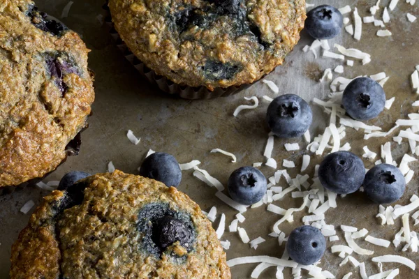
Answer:
[[[311, 3], [331, 3], [337, 7], [351, 4], [358, 6], [360, 15], [367, 16], [367, 10], [375, 4], [375, 0], [349, 1], [349, 0], [328, 0], [311, 1]], [[381, 1], [381, 6], [388, 5], [389, 0]], [[60, 18], [61, 12], [68, 3], [68, 0], [37, 1], [41, 10], [50, 15]], [[68, 17], [61, 19], [68, 27], [82, 34], [84, 41], [91, 49], [89, 55], [89, 66], [96, 73], [96, 102], [93, 105], [93, 115], [89, 119], [89, 128], [82, 134], [82, 148], [80, 155], [70, 157], [61, 165], [56, 172], [51, 174], [46, 181], [59, 180], [59, 178], [71, 170], [83, 170], [96, 173], [105, 172], [109, 161], [115, 167], [124, 172], [137, 173], [137, 168], [149, 149], [155, 151], [166, 151], [172, 153], [180, 163], [186, 163], [193, 159], [203, 162], [200, 167], [207, 169], [210, 174], [226, 183], [230, 172], [244, 165], [251, 165], [263, 160], [263, 149], [267, 140], [267, 129], [265, 128], [265, 110], [267, 103], [261, 97], [264, 95], [274, 97], [274, 94], [267, 89], [265, 84], [258, 82], [246, 91], [229, 98], [218, 98], [215, 100], [181, 100], [173, 96], [156, 91], [149, 86], [144, 78], [140, 77], [135, 68], [124, 59], [123, 54], [112, 43], [109, 33], [101, 22], [98, 15], [102, 13], [103, 0], [75, 0], [71, 6]], [[377, 15], [381, 17], [383, 10], [378, 10]], [[344, 66], [344, 77], [355, 77], [358, 75], [372, 75], [385, 71], [390, 75], [390, 80], [385, 84], [385, 92], [388, 98], [395, 96], [396, 100], [392, 110], [385, 110], [375, 121], [370, 124], [381, 126], [388, 130], [393, 126], [396, 119], [406, 118], [407, 114], [413, 112], [411, 103], [417, 96], [411, 89], [409, 77], [413, 73], [414, 66], [419, 64], [419, 22], [411, 24], [406, 20], [406, 13], [419, 15], [418, 3], [412, 7], [405, 1], [399, 1], [395, 12], [392, 13], [392, 21], [387, 24], [392, 31], [392, 36], [378, 38], [375, 36], [378, 27], [374, 24], [364, 24], [362, 40], [358, 43], [348, 33], [331, 40], [330, 43], [341, 43], [346, 47], [357, 47], [369, 54], [372, 54], [372, 62], [361, 66], [355, 61], [353, 68]], [[348, 15], [346, 15], [348, 16]], [[352, 16], [351, 16], [352, 17]], [[281, 66], [267, 78], [279, 85], [281, 93], [296, 93], [306, 100], [314, 97], [325, 98], [328, 93], [328, 85], [320, 84], [318, 79], [326, 68], [335, 68], [341, 61], [321, 58], [314, 59], [313, 54], [302, 52], [304, 45], [310, 44], [312, 39], [302, 32], [302, 40], [295, 47], [284, 66]], [[337, 75], [335, 75], [336, 77]], [[244, 96], [258, 96], [260, 106], [256, 110], [243, 111], [237, 118], [233, 117], [233, 111], [237, 105], [247, 103]], [[311, 126], [311, 135], [317, 135], [323, 131], [328, 124], [326, 116], [319, 107], [312, 106], [314, 110], [314, 123]], [[135, 135], [141, 137], [137, 146], [131, 144], [126, 138], [128, 129], [133, 130]], [[362, 146], [366, 143], [362, 140], [362, 133], [348, 128], [346, 140], [351, 140], [352, 151], [358, 155], [362, 154]], [[374, 139], [367, 142], [369, 149], [379, 153], [379, 146], [386, 140]], [[279, 164], [282, 159], [297, 160], [300, 166], [301, 154], [304, 150], [297, 152], [286, 152], [284, 150], [285, 140], [275, 139], [274, 158]], [[301, 146], [306, 146], [302, 140]], [[210, 150], [221, 148], [236, 154], [238, 162], [230, 163], [229, 158], [220, 154], [210, 154]], [[403, 153], [408, 151], [409, 145], [404, 142], [397, 146], [392, 142], [392, 152], [395, 160], [399, 163]], [[320, 158], [312, 157], [309, 174], [313, 174], [314, 165], [320, 162]], [[366, 167], [372, 167], [373, 163], [365, 161]], [[413, 164], [417, 175], [417, 164]], [[299, 167], [289, 169], [291, 176], [298, 173]], [[262, 167], [261, 170], [266, 176], [274, 173], [269, 167]], [[283, 185], [284, 186], [284, 185]], [[194, 199], [203, 210], [209, 210], [216, 206], [218, 212], [226, 213], [227, 223], [233, 220], [235, 211], [223, 204], [214, 196], [215, 188], [210, 188], [192, 176], [192, 171], [183, 173], [182, 185], [179, 189]], [[409, 184], [401, 204], [409, 202], [413, 194], [418, 194], [418, 180], [415, 179]], [[10, 247], [17, 239], [20, 230], [25, 227], [29, 220], [30, 213], [20, 213], [20, 208], [29, 199], [39, 204], [47, 191], [29, 186], [23, 190], [17, 190], [13, 194], [0, 197], [0, 278], [8, 278], [10, 266]], [[355, 194], [337, 201], [337, 209], [332, 209], [326, 214], [326, 221], [333, 225], [354, 225], [358, 228], [366, 227], [373, 236], [392, 240], [401, 227], [401, 221], [397, 220], [393, 226], [381, 226], [374, 216], [378, 206], [370, 204], [363, 195]], [[299, 206], [301, 199], [286, 197], [279, 202], [274, 202], [283, 208]], [[272, 225], [279, 216], [267, 212], [265, 206], [252, 209], [244, 214], [247, 220], [244, 227], [251, 239], [263, 236], [267, 241], [262, 243], [258, 250], [249, 248], [248, 244], [241, 243], [235, 233], [226, 232], [223, 239], [231, 241], [230, 250], [227, 251], [228, 259], [246, 255], [271, 255], [281, 257], [283, 246], [278, 246], [276, 239], [267, 236], [272, 232]], [[286, 223], [281, 229], [289, 234], [294, 227], [301, 225], [301, 214], [295, 214], [294, 223]], [[214, 225], [218, 225], [218, 220]], [[415, 227], [418, 230], [418, 227]], [[344, 244], [343, 235], [339, 232], [341, 241]], [[391, 246], [388, 249], [380, 249], [377, 246], [359, 241], [363, 248], [374, 249], [374, 255], [394, 254], [406, 255], [414, 262], [419, 263], [418, 254], [411, 252], [399, 252], [401, 248], [395, 249]], [[334, 244], [337, 244], [334, 243]], [[328, 243], [330, 247], [330, 243]], [[360, 262], [366, 262], [369, 275], [377, 273], [378, 267], [372, 264], [367, 257], [359, 257]], [[341, 259], [332, 255], [328, 248], [323, 257], [321, 266], [341, 278], [344, 274], [352, 271], [353, 278], [359, 278], [358, 269], [351, 264], [342, 268], [338, 267]], [[232, 269], [233, 278], [250, 278], [251, 271], [256, 264], [235, 266]], [[418, 271], [411, 271], [404, 266], [395, 264], [384, 264], [384, 269], [399, 267], [401, 275], [398, 278], [418, 278]], [[261, 278], [274, 278], [275, 269], [268, 269]], [[291, 272], [286, 271], [286, 278], [291, 278]]]

